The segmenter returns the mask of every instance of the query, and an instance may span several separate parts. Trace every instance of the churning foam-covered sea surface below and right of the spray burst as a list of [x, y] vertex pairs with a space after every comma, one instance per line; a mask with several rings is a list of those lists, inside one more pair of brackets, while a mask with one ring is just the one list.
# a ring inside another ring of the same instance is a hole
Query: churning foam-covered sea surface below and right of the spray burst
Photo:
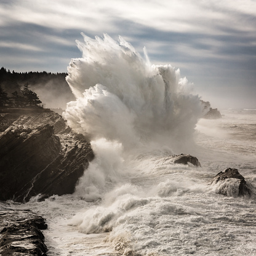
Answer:
[[46, 218], [49, 255], [256, 255], [255, 197], [238, 198], [236, 185], [222, 196], [209, 185], [231, 167], [256, 187], [256, 111], [221, 113], [199, 119], [193, 152], [184, 152], [202, 167], [151, 151], [129, 160], [130, 174], [108, 180], [102, 199], [75, 193], [15, 207]]

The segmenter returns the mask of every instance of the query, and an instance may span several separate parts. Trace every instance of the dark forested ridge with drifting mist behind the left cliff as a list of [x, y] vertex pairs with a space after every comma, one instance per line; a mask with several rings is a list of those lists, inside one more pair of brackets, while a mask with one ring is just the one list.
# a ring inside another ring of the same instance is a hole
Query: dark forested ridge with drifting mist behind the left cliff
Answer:
[[9, 108], [63, 108], [73, 100], [67, 73], [15, 72], [0, 69], [0, 106]]

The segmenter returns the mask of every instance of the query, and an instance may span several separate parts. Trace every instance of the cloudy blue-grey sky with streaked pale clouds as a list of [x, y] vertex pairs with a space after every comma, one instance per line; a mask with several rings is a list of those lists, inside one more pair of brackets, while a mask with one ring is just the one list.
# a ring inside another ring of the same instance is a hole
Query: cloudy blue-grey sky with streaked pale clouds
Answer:
[[66, 72], [81, 32], [145, 46], [213, 108], [256, 109], [256, 0], [1, 0], [0, 66]]

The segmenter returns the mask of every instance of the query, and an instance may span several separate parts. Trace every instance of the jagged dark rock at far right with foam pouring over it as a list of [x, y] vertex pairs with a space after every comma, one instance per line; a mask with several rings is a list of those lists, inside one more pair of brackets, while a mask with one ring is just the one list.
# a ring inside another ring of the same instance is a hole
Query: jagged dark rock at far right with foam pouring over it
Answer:
[[225, 172], [219, 172], [212, 181], [217, 184], [217, 193], [224, 196], [251, 196], [252, 185], [247, 183], [244, 177], [239, 174], [238, 169], [228, 168]]

